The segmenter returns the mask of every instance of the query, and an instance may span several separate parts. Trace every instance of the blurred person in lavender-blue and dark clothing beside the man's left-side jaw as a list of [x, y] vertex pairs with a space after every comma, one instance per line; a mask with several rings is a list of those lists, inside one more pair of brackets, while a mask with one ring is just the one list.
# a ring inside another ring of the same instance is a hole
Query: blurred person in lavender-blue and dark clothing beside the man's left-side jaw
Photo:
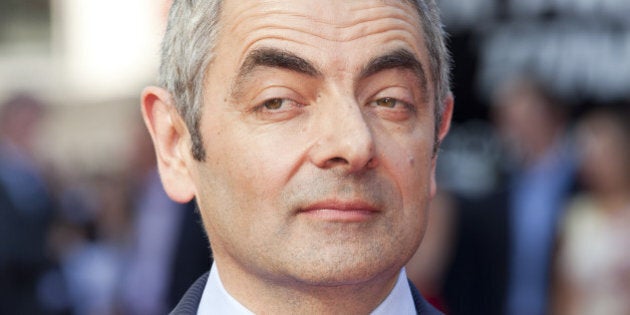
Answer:
[[129, 173], [136, 182], [123, 309], [125, 314], [165, 314], [210, 268], [212, 257], [194, 202], [179, 204], [166, 195], [144, 126], [139, 124], [133, 139]]

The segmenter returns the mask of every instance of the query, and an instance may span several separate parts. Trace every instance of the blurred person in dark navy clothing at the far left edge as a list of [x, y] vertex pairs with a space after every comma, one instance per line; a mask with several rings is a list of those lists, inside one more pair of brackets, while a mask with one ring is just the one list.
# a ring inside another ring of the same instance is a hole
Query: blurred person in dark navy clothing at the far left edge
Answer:
[[46, 233], [54, 213], [35, 140], [44, 104], [16, 94], [0, 105], [0, 313], [41, 311], [36, 283], [48, 260]]

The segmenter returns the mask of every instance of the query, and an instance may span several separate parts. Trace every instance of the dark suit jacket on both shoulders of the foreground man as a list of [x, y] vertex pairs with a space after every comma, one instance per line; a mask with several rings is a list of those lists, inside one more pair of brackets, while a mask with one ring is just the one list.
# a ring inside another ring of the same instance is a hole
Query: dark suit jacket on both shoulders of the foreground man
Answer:
[[[201, 276], [197, 281], [188, 289], [188, 292], [179, 301], [179, 304], [171, 312], [171, 315], [195, 315], [201, 302], [201, 295], [206, 287], [208, 281], [208, 274]], [[413, 302], [416, 306], [416, 311], [420, 315], [442, 315], [442, 312], [436, 310], [429, 302], [427, 302], [418, 289], [409, 281], [411, 287], [411, 295], [413, 296]]]

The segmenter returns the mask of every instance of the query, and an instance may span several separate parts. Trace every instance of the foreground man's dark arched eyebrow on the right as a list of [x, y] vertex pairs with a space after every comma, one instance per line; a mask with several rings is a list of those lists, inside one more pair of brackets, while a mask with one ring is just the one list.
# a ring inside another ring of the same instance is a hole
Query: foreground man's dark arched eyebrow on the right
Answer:
[[427, 95], [427, 75], [422, 63], [416, 56], [407, 49], [400, 48], [370, 60], [361, 73], [359, 79], [367, 78], [378, 72], [389, 69], [407, 69], [416, 76], [422, 88], [422, 95]]

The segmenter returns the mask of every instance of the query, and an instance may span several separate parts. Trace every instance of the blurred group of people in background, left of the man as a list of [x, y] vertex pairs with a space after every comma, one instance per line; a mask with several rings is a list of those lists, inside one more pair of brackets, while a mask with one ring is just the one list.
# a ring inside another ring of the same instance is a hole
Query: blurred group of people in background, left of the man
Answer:
[[138, 118], [120, 173], [60, 173], [34, 150], [48, 107], [0, 105], [0, 314], [165, 314], [210, 268], [193, 204], [168, 199]]

